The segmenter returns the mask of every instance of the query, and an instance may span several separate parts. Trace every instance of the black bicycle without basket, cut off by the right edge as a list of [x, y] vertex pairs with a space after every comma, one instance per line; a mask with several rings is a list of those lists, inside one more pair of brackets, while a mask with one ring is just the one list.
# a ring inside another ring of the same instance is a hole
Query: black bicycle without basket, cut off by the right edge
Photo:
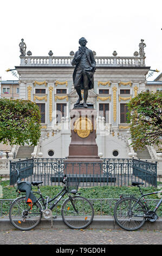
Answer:
[[[157, 194], [162, 191], [143, 194], [139, 185], [144, 185], [142, 182], [132, 182], [132, 186], [138, 186], [141, 196], [137, 199], [132, 194], [130, 196], [120, 195], [120, 199], [114, 207], [114, 219], [119, 227], [134, 231], [142, 227], [146, 221], [155, 222], [158, 219], [156, 211], [158, 210], [162, 198], [159, 200], [157, 206], [152, 211], [145, 200], [145, 196], [150, 194]], [[144, 200], [144, 204], [141, 202], [141, 198]]]

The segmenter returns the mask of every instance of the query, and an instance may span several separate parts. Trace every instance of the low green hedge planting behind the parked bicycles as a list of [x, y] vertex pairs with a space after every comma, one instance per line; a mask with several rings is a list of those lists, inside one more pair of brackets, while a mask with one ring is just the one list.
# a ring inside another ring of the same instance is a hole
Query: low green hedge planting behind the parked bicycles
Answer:
[[[10, 187], [9, 181], [1, 181], [0, 185], [3, 186], [3, 198], [2, 199], [15, 199], [17, 197], [16, 187]], [[33, 191], [37, 191], [36, 187], [32, 187]], [[54, 197], [57, 193], [62, 190], [62, 186], [40, 186], [40, 190], [43, 196], [49, 196], [50, 198]], [[142, 187], [144, 193], [151, 193], [158, 191], [158, 188], [155, 187]], [[102, 201], [102, 214], [103, 215], [113, 215], [113, 208], [116, 200], [120, 194], [134, 194], [136, 197], [140, 196], [138, 187], [118, 187], [118, 186], [98, 186], [98, 187], [80, 187], [79, 193], [81, 196], [90, 198], [90, 199], [102, 199], [102, 198], [111, 198], [112, 200], [103, 200]], [[66, 196], [64, 197], [66, 198]], [[147, 196], [146, 199], [159, 199], [157, 194]], [[92, 200], [95, 214], [101, 214], [101, 202], [100, 200]], [[53, 214], [57, 213], [60, 215], [61, 203], [57, 204], [57, 208], [53, 210]], [[155, 202], [150, 203], [152, 210], [155, 207]], [[9, 202], [3, 204], [3, 215], [8, 215], [9, 211]], [[158, 210], [158, 215], [162, 216], [162, 205]]]

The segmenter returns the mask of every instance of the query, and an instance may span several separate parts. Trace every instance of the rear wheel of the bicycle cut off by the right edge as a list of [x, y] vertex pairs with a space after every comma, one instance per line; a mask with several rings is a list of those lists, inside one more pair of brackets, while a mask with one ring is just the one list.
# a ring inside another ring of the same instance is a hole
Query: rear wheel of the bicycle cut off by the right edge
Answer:
[[133, 231], [142, 227], [146, 221], [146, 209], [136, 198], [127, 197], [119, 200], [114, 208], [116, 223], [123, 229]]

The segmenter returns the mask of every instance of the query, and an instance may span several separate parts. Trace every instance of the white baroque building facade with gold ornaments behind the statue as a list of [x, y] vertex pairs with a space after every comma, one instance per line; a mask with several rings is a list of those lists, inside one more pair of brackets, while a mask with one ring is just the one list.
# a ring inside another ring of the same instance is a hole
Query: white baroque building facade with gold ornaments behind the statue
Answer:
[[[95, 53], [94, 53], [95, 54]], [[70, 111], [77, 100], [73, 84], [74, 56], [22, 56], [16, 70], [20, 75], [20, 99], [34, 101], [41, 112], [41, 138], [33, 156], [67, 157], [70, 144]], [[98, 112], [96, 143], [100, 156], [127, 158], [130, 153], [129, 123], [126, 103], [146, 90], [150, 66], [146, 57], [94, 56], [94, 89], [88, 91], [87, 103]], [[131, 155], [130, 155], [131, 156]], [[135, 156], [135, 155], [134, 155]]]

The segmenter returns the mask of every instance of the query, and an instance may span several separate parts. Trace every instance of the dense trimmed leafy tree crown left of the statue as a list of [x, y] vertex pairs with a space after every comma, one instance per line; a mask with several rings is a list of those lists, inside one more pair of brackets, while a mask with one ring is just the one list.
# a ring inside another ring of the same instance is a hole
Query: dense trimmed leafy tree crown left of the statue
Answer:
[[0, 99], [0, 142], [37, 145], [41, 135], [38, 106], [29, 100]]

